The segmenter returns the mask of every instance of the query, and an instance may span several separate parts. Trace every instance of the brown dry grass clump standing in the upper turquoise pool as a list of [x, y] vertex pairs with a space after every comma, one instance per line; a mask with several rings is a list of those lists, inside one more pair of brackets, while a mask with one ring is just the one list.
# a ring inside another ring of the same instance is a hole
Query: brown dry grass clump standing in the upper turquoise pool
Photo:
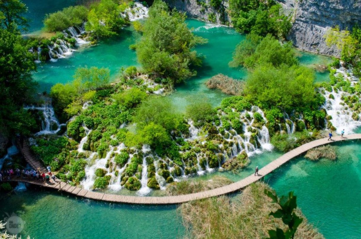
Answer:
[[223, 93], [229, 95], [240, 95], [243, 92], [244, 81], [238, 81], [223, 74], [218, 74], [206, 82], [210, 89], [220, 89]]

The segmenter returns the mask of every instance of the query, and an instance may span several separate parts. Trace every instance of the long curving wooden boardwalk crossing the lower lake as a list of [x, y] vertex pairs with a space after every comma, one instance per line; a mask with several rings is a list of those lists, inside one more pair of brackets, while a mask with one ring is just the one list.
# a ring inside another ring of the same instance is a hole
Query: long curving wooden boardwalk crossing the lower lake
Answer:
[[[361, 134], [351, 134], [345, 136], [345, 138], [341, 138], [341, 136], [335, 136], [333, 137], [332, 141], [327, 141], [327, 138], [314, 140], [312, 142], [306, 143], [304, 145], [301, 145], [298, 148], [293, 149], [292, 151], [285, 153], [281, 157], [277, 158], [276, 160], [270, 162], [268, 165], [261, 168], [258, 173], [259, 176], [254, 176], [253, 174], [248, 176], [247, 178], [244, 178], [238, 182], [215, 188], [208, 191], [203, 192], [197, 192], [193, 194], [187, 194], [187, 195], [179, 195], [179, 196], [164, 196], [164, 197], [139, 197], [139, 196], [126, 196], [126, 195], [115, 195], [115, 194], [105, 194], [103, 192], [93, 192], [89, 190], [84, 190], [79, 187], [71, 186], [68, 183], [61, 182], [61, 181], [53, 181], [51, 180], [51, 183], [45, 183], [42, 181], [30, 181], [30, 180], [24, 180], [21, 178], [13, 178], [12, 181], [21, 181], [21, 182], [27, 182], [36, 184], [39, 186], [49, 187], [49, 188], [55, 188], [64, 192], [68, 192], [70, 194], [86, 197], [89, 199], [95, 199], [95, 200], [102, 200], [102, 201], [109, 201], [109, 202], [116, 202], [116, 203], [132, 203], [132, 204], [178, 204], [178, 203], [184, 203], [187, 201], [192, 200], [199, 200], [204, 199], [208, 197], [213, 196], [219, 196], [223, 194], [229, 194], [231, 192], [240, 190], [246, 186], [248, 186], [251, 183], [256, 182], [257, 180], [261, 179], [265, 175], [271, 173], [273, 170], [279, 168], [281, 165], [286, 163], [287, 161], [291, 160], [292, 158], [308, 151], [309, 149], [312, 149], [314, 147], [318, 147], [320, 145], [342, 141], [342, 140], [352, 140], [352, 139], [361, 139]], [[36, 160], [35, 156], [32, 155], [29, 146], [27, 144], [24, 144], [24, 147], [21, 147], [19, 145], [20, 151], [22, 152], [25, 160], [34, 168], [38, 169], [40, 168], [40, 171], [47, 171], [42, 164]]]

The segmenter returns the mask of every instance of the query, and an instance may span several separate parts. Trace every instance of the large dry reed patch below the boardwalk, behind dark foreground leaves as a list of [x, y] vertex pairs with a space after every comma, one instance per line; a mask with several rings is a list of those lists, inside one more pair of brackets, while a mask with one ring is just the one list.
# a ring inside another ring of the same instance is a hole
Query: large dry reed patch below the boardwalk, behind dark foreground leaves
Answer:
[[[187, 238], [265, 238], [268, 230], [280, 227], [286, 229], [282, 220], [269, 216], [278, 209], [277, 204], [264, 194], [269, 188], [262, 182], [256, 182], [234, 200], [228, 196], [212, 197], [184, 203], [179, 207]], [[322, 234], [304, 218], [295, 238], [323, 238]]]

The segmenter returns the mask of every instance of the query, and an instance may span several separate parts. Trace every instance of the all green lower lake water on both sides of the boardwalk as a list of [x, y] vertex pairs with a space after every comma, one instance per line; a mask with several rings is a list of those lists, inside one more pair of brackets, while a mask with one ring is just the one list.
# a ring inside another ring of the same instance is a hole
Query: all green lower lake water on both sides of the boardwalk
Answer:
[[[278, 195], [295, 191], [297, 203], [309, 222], [330, 238], [359, 238], [361, 235], [361, 142], [336, 143], [340, 157], [335, 162], [311, 162], [303, 157], [266, 176]], [[277, 158], [264, 153], [251, 158], [239, 175], [222, 173], [233, 180], [253, 173]], [[216, 174], [202, 176], [210, 179]], [[79, 199], [67, 194], [30, 188], [10, 196], [0, 194], [0, 216], [17, 213], [25, 220], [23, 235], [34, 238], [179, 238], [184, 235], [177, 206], [109, 204]], [[1, 218], [2, 219], [2, 218]]]

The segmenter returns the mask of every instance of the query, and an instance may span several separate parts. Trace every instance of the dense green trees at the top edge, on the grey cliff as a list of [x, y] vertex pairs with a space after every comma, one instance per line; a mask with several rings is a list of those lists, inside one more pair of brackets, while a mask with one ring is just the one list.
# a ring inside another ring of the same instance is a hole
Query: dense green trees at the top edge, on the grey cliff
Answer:
[[292, 27], [290, 16], [274, 0], [230, 0], [229, 11], [234, 27], [243, 33], [286, 38]]

